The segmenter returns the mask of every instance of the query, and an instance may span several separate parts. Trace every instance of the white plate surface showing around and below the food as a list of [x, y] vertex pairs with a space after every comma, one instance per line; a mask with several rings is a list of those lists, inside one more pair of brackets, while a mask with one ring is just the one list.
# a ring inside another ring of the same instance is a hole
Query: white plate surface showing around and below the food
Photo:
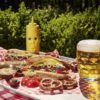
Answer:
[[[73, 58], [66, 58], [60, 56], [60, 59], [72, 61]], [[75, 73], [77, 81], [78, 81], [78, 73]], [[20, 80], [20, 79], [19, 79]], [[0, 80], [0, 86], [6, 89], [12, 90], [16, 93], [25, 95], [35, 100], [87, 100], [80, 92], [79, 86], [72, 90], [64, 90], [63, 94], [56, 94], [56, 95], [48, 95], [40, 92], [39, 87], [37, 88], [27, 88], [24, 86], [19, 86], [18, 89], [14, 89], [9, 86], [9, 84], [5, 80]]]

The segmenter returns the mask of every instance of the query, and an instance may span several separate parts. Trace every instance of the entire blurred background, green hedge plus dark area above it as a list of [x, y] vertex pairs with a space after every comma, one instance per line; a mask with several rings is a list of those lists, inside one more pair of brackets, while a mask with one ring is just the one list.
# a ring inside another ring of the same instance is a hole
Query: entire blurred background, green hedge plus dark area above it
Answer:
[[100, 40], [100, 0], [0, 0], [0, 46], [26, 49], [32, 16], [40, 26], [41, 51], [75, 57], [80, 40]]

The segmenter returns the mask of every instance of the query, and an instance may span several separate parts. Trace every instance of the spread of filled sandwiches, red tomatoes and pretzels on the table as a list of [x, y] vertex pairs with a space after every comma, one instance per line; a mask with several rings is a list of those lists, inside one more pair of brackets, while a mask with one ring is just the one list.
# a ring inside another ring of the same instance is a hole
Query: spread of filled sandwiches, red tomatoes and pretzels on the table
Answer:
[[60, 59], [57, 51], [34, 54], [9, 49], [6, 50], [4, 58], [0, 64], [0, 79], [5, 80], [11, 88], [38, 87], [39, 92], [52, 95], [78, 86], [76, 61]]

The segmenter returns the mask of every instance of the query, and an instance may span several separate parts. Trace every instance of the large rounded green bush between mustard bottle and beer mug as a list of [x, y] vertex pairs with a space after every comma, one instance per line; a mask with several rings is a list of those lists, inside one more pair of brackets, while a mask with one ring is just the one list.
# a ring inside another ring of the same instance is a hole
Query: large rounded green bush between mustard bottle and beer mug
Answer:
[[100, 7], [83, 13], [62, 14], [53, 18], [44, 31], [44, 51], [58, 49], [61, 55], [75, 57], [76, 45], [82, 39], [100, 39]]

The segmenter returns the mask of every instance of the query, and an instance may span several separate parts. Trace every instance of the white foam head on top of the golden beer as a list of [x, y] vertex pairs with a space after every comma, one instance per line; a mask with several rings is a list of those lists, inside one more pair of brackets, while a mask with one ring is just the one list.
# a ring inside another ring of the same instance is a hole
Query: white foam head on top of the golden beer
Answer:
[[77, 44], [77, 50], [84, 52], [100, 52], [100, 40], [82, 40]]

